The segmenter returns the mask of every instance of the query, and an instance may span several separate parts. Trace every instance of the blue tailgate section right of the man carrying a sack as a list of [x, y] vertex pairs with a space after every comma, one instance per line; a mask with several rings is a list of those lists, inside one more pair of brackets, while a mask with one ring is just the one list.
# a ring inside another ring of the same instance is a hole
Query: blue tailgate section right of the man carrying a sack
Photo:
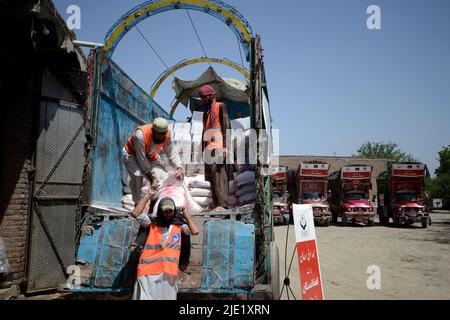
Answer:
[[[239, 291], [254, 286], [255, 228], [251, 223], [252, 214], [253, 206], [247, 206], [192, 217], [200, 234], [191, 237], [189, 267], [180, 273], [180, 292]], [[243, 246], [243, 242], [249, 245]]]

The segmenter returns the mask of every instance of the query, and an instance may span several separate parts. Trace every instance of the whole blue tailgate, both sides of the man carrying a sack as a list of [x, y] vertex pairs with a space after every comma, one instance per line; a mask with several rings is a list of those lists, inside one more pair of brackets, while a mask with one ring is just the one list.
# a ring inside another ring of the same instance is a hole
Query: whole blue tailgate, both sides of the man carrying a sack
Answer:
[[[77, 258], [82, 287], [73, 291], [117, 292], [133, 287], [139, 257], [130, 257], [131, 244], [139, 226], [122, 210], [104, 209], [96, 208], [83, 228]], [[180, 292], [250, 291], [255, 283], [254, 206], [192, 218], [200, 234], [191, 236], [189, 266], [180, 273]]]

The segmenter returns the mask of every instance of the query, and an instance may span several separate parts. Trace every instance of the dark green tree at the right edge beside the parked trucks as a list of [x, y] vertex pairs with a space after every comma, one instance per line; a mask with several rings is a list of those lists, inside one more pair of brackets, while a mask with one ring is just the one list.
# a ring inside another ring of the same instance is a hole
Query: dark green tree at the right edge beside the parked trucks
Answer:
[[450, 145], [439, 152], [436, 178], [428, 179], [427, 192], [432, 198], [441, 198], [444, 208], [450, 209]]

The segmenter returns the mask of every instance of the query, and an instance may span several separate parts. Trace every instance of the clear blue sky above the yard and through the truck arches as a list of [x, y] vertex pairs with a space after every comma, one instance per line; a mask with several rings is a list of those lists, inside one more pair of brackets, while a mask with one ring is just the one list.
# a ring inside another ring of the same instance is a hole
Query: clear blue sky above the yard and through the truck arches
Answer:
[[[54, 0], [81, 8], [80, 40], [103, 42], [126, 11], [144, 1]], [[284, 155], [348, 156], [366, 141], [392, 141], [438, 166], [450, 144], [450, 1], [228, 0], [262, 36], [274, 127]], [[381, 8], [382, 30], [366, 27], [369, 5]], [[240, 62], [235, 34], [216, 18], [191, 12], [210, 57]], [[169, 66], [203, 56], [185, 11], [156, 15], [139, 28]], [[165, 70], [136, 30], [113, 59], [148, 90]], [[236, 71], [213, 65], [224, 77]], [[175, 74], [198, 77], [207, 65]], [[171, 80], [156, 99], [168, 108]], [[185, 120], [186, 111], [177, 112]]]

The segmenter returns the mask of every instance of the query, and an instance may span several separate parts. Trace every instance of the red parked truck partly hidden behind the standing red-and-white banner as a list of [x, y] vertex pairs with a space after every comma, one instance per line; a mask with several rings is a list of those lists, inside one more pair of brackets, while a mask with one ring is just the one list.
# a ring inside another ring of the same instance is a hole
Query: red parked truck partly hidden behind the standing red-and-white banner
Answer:
[[327, 203], [330, 165], [320, 161], [301, 163], [297, 171], [298, 202], [311, 204], [316, 225], [329, 226], [330, 206]]

